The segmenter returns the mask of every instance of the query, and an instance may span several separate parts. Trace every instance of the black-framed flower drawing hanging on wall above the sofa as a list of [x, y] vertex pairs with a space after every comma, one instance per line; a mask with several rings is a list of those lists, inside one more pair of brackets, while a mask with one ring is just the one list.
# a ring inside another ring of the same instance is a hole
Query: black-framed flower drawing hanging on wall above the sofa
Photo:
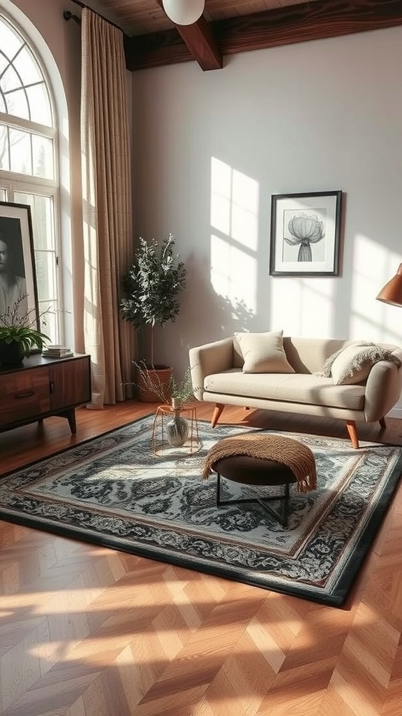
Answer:
[[271, 276], [338, 276], [342, 192], [274, 194]]

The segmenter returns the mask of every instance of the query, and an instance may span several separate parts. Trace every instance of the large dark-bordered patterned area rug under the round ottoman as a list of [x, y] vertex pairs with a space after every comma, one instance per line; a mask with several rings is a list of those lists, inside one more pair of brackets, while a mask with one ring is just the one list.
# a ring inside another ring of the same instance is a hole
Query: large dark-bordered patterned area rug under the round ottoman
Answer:
[[[391, 502], [402, 448], [295, 433], [313, 450], [318, 489], [290, 488], [288, 528], [258, 504], [216, 507], [201, 479], [217, 440], [251, 428], [200, 422], [202, 445], [152, 453], [152, 417], [0, 480], [0, 517], [321, 604], [345, 601]], [[273, 432], [273, 431], [272, 431]], [[222, 497], [273, 488], [222, 480]], [[276, 488], [274, 488], [276, 489]], [[280, 488], [282, 489], [282, 488]]]

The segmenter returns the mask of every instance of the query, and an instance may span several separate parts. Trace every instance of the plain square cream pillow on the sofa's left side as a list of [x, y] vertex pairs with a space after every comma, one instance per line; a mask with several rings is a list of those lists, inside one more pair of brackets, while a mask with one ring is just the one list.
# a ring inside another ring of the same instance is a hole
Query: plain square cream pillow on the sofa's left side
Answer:
[[294, 373], [283, 349], [283, 332], [236, 333], [243, 373]]

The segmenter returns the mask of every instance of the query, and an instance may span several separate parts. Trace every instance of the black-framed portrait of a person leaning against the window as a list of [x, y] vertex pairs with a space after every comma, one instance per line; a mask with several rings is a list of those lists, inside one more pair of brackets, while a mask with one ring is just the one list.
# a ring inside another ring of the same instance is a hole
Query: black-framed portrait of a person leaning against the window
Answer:
[[31, 207], [0, 201], [0, 316], [39, 329]]

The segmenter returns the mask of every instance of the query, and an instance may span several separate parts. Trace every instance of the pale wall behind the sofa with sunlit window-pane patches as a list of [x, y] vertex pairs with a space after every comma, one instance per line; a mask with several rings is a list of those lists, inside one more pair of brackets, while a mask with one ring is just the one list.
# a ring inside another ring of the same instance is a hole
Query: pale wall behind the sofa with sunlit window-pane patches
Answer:
[[[402, 261], [401, 66], [392, 28], [133, 74], [136, 233], [172, 231], [188, 268], [158, 360], [181, 370], [242, 328], [402, 345], [401, 309], [376, 301]], [[247, 198], [232, 226], [225, 205], [211, 221], [212, 158]], [[271, 195], [327, 190], [344, 193], [340, 276], [270, 276]]]

